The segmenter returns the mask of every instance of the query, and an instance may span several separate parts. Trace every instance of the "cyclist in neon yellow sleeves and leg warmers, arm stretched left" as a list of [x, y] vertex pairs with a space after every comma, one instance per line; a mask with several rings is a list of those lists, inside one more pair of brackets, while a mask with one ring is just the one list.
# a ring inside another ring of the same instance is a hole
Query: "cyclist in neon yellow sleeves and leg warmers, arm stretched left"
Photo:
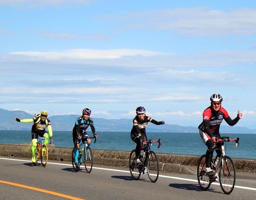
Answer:
[[[38, 135], [40, 137], [46, 137], [46, 138], [50, 138], [51, 142], [53, 141], [52, 139], [52, 125], [51, 125], [51, 121], [47, 118], [48, 116], [48, 112], [47, 111], [41, 111], [41, 114], [35, 114], [35, 117], [32, 119], [23, 119], [20, 120], [18, 117], [14, 117], [14, 119], [17, 122], [33, 122], [33, 126], [32, 126], [32, 146], [31, 146], [31, 150], [32, 150], [32, 163], [35, 163], [35, 150], [36, 150], [36, 146], [37, 146], [37, 138]], [[46, 128], [48, 128], [48, 132], [45, 130]], [[44, 144], [48, 144], [49, 143], [49, 139], [45, 139], [44, 140]]]

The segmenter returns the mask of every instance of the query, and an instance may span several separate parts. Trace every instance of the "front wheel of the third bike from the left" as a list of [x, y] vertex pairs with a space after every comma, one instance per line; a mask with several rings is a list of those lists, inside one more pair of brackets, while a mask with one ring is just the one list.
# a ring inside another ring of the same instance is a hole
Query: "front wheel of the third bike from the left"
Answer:
[[157, 159], [157, 154], [154, 151], [149, 151], [147, 164], [145, 168], [148, 171], [148, 178], [152, 183], [155, 183], [159, 176], [159, 163]]

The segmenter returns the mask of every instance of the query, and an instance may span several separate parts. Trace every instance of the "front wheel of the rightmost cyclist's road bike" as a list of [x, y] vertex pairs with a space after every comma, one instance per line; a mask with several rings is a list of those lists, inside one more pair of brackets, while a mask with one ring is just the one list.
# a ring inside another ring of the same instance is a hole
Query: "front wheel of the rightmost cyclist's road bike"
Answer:
[[236, 183], [236, 169], [233, 160], [226, 156], [223, 158], [219, 171], [221, 189], [225, 194], [230, 194]]

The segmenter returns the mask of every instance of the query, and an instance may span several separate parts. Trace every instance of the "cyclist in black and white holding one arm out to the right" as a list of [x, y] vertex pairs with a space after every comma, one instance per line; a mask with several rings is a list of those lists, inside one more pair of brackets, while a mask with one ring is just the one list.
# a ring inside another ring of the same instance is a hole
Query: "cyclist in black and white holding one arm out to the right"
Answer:
[[135, 155], [136, 155], [136, 162], [141, 163], [140, 161], [140, 151], [143, 148], [143, 141], [147, 141], [146, 135], [146, 127], [148, 122], [154, 123], [156, 125], [164, 124], [164, 121], [156, 121], [151, 117], [145, 115], [146, 110], [144, 107], [140, 106], [136, 109], [136, 116], [133, 119], [133, 127], [131, 129], [131, 140], [136, 143], [135, 148]]

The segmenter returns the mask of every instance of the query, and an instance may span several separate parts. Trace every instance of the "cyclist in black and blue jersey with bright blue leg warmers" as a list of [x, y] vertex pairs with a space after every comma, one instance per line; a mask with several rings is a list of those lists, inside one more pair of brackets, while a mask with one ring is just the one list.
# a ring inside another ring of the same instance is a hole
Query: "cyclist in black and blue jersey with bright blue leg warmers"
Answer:
[[[87, 108], [83, 109], [82, 115], [76, 118], [76, 123], [75, 123], [75, 126], [73, 127], [73, 143], [75, 146], [74, 156], [75, 156], [75, 164], [77, 168], [79, 168], [79, 165], [78, 165], [79, 144], [81, 142], [81, 139], [84, 136], [88, 136], [86, 129], [90, 126], [93, 132], [93, 136], [98, 137], [93, 125], [93, 119], [90, 118], [91, 113], [92, 112], [90, 109], [87, 109]], [[91, 143], [90, 138], [88, 139], [87, 143], [88, 143], [88, 146], [90, 146], [90, 143]]]

